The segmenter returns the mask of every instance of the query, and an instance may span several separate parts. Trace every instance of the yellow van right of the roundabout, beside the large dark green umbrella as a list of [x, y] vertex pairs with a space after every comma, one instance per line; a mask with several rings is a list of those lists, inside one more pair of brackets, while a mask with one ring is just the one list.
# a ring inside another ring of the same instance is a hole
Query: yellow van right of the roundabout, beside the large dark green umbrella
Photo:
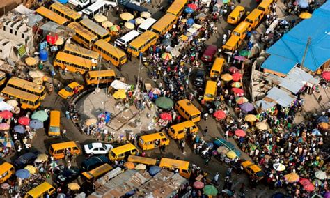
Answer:
[[201, 121], [201, 112], [187, 99], [176, 102], [175, 110], [177, 110], [184, 119], [193, 121], [194, 123]]

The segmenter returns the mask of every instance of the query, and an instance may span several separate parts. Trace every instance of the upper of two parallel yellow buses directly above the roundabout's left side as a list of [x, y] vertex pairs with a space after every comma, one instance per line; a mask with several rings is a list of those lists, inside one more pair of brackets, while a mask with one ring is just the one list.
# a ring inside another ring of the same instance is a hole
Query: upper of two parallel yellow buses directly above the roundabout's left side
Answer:
[[79, 56], [84, 59], [90, 59], [93, 66], [97, 66], [97, 61], [100, 59], [100, 54], [94, 52], [93, 50], [88, 50], [79, 45], [74, 45], [72, 43], [65, 43], [63, 52], [72, 54], [74, 56]]

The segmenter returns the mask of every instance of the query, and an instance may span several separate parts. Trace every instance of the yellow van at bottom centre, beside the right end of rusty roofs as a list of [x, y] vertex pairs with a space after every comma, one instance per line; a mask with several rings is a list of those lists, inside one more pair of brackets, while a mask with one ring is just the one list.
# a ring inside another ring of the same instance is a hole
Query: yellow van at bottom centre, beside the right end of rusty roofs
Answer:
[[171, 158], [162, 158], [159, 162], [159, 167], [162, 169], [168, 169], [171, 171], [175, 171], [178, 169], [178, 172], [184, 178], [190, 178], [191, 167], [190, 162], [182, 161], [182, 160], [174, 160]]

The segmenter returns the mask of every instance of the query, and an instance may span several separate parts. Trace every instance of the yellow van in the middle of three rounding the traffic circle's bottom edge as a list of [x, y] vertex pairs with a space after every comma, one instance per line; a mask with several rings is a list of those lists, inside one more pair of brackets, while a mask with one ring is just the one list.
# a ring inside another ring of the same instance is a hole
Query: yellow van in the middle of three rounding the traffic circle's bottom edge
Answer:
[[139, 146], [143, 151], [170, 144], [170, 139], [163, 132], [156, 132], [149, 135], [142, 135], [139, 138]]

